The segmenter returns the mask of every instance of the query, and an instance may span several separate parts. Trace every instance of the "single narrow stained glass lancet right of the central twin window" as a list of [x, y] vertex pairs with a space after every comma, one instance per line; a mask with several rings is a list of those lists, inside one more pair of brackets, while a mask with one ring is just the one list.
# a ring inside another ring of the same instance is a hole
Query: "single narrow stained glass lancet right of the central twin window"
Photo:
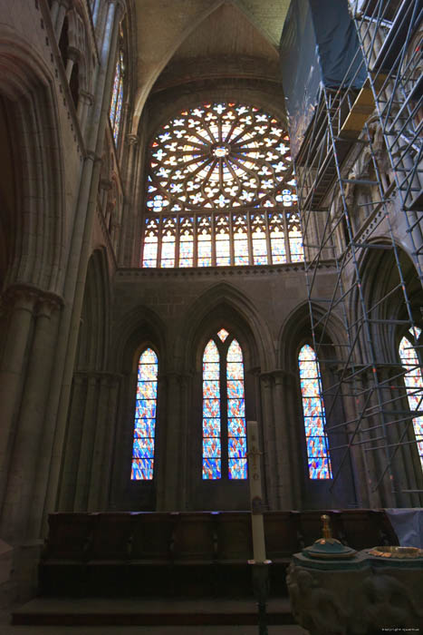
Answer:
[[332, 478], [331, 457], [325, 432], [320, 366], [312, 347], [305, 344], [298, 356], [309, 478]]

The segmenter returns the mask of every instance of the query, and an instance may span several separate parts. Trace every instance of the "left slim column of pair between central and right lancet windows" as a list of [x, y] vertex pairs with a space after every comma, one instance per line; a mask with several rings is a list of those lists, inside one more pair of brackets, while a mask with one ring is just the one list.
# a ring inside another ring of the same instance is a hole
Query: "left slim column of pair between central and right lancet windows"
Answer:
[[277, 454], [274, 437], [274, 378], [272, 373], [260, 375], [261, 401], [262, 401], [262, 437], [263, 437], [263, 465], [266, 475], [267, 503], [270, 509], [278, 509], [278, 477], [276, 474]]

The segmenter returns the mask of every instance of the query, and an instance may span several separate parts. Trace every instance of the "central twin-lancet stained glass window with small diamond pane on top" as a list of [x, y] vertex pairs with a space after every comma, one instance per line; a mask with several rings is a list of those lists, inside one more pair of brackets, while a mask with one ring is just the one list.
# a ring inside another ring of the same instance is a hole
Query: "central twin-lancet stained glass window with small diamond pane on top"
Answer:
[[203, 354], [203, 480], [247, 477], [243, 352], [221, 328]]

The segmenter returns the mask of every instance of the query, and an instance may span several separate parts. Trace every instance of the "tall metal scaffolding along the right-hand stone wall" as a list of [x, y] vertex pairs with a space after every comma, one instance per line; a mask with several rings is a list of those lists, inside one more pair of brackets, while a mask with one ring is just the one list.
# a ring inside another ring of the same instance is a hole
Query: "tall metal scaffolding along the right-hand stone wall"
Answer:
[[[367, 79], [361, 90], [353, 80], [322, 87], [294, 161], [313, 345], [335, 377], [322, 392], [337, 459], [332, 488], [351, 460], [368, 484], [361, 505], [422, 502], [413, 419], [423, 416], [423, 391], [415, 389], [411, 412], [410, 367], [398, 355], [401, 334], [423, 349], [422, 5], [350, 1], [360, 42], [350, 71], [355, 77], [364, 67]], [[328, 263], [334, 278], [322, 285], [318, 272]], [[344, 334], [336, 342], [334, 323]]]

